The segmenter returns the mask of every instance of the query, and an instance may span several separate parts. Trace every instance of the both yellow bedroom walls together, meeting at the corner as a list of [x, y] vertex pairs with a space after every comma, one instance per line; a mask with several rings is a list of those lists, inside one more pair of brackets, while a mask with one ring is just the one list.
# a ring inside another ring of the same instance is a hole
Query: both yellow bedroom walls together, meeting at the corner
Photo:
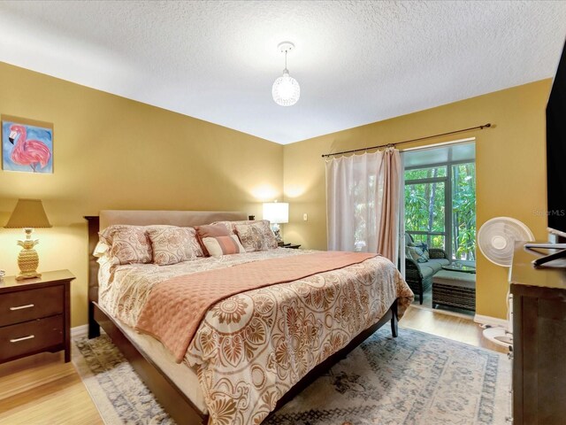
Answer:
[[[54, 174], [0, 172], [0, 225], [19, 197], [41, 198], [54, 228], [38, 229], [41, 270], [69, 268], [73, 326], [86, 323], [87, 228], [102, 209], [239, 210], [290, 203], [287, 242], [326, 248], [323, 153], [473, 127], [405, 145], [476, 137], [478, 226], [506, 215], [546, 239], [544, 108], [537, 81], [285, 147], [203, 120], [0, 63], [0, 113], [55, 126]], [[309, 220], [303, 221], [302, 214]], [[0, 268], [17, 273], [17, 229], [0, 229]], [[478, 254], [478, 314], [504, 317], [507, 270]]]

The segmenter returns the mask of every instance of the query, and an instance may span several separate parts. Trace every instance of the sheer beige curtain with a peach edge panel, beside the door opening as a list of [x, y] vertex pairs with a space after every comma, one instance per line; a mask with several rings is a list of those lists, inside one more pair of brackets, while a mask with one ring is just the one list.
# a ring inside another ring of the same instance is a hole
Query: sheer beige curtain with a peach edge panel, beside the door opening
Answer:
[[393, 148], [326, 161], [328, 249], [379, 252], [397, 264], [400, 182]]

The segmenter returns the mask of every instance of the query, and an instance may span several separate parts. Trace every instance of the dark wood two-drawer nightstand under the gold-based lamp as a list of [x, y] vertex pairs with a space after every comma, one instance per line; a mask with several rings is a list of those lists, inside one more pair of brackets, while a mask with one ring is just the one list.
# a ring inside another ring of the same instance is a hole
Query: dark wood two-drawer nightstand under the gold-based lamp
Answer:
[[65, 350], [71, 360], [71, 281], [68, 270], [41, 278], [0, 281], [0, 363]]

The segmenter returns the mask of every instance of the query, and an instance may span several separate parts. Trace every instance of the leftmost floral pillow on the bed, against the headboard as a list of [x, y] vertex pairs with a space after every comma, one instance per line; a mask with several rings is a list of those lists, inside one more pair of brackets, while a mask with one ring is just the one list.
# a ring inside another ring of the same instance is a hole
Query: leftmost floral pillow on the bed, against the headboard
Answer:
[[110, 246], [111, 259], [119, 264], [150, 263], [152, 252], [149, 237], [141, 226], [115, 224], [98, 234]]

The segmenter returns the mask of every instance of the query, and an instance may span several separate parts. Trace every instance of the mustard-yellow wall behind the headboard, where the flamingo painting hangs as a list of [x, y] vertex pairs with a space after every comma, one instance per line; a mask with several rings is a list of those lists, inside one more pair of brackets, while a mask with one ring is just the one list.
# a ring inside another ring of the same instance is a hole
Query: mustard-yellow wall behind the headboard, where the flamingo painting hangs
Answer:
[[[0, 171], [0, 226], [41, 198], [39, 271], [68, 268], [72, 326], [87, 322], [87, 226], [103, 209], [243, 211], [281, 197], [283, 147], [157, 107], [0, 63], [0, 113], [54, 124], [54, 174]], [[18, 272], [18, 229], [0, 228], [0, 268]]]

